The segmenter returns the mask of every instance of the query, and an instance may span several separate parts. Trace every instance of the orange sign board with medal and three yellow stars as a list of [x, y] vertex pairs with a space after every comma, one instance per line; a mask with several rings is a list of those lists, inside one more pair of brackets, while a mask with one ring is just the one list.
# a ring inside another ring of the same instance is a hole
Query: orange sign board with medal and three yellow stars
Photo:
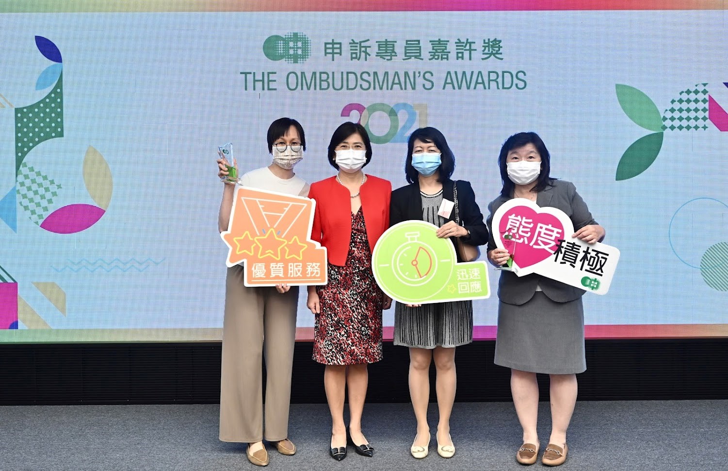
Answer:
[[228, 230], [226, 265], [243, 264], [247, 287], [326, 284], [326, 248], [310, 238], [315, 201], [237, 187]]

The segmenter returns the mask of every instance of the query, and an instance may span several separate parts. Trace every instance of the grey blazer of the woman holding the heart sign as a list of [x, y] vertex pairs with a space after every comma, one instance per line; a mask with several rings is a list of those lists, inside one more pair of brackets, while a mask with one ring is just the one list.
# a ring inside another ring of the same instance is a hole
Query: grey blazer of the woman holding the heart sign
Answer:
[[[510, 199], [512, 198], [500, 195], [488, 204], [488, 211], [490, 211], [486, 220], [488, 229], [493, 224], [493, 214], [503, 203]], [[551, 180], [551, 184], [538, 193], [536, 203], [541, 207], [550, 206], [561, 209], [571, 218], [571, 222], [574, 223], [574, 230], [579, 230], [585, 225], [597, 224], [586, 203], [577, 193], [577, 188], [571, 182]], [[488, 240], [488, 252], [493, 249], [496, 249], [496, 241], [491, 233]], [[498, 282], [498, 297], [506, 304], [521, 305], [534, 296], [537, 286], [540, 286], [543, 293], [557, 303], [576, 300], [585, 293], [583, 289], [545, 278], [537, 273], [519, 277], [513, 272], [502, 271]]]

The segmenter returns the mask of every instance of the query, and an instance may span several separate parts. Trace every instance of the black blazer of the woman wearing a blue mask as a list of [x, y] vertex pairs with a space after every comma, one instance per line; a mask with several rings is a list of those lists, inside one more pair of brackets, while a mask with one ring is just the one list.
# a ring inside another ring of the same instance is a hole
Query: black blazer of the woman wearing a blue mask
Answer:
[[[470, 230], [470, 237], [462, 238], [462, 241], [470, 245], [488, 244], [488, 226], [483, 222], [483, 214], [480, 213], [478, 203], [475, 202], [475, 192], [472, 191], [470, 182], [458, 180], [456, 184], [460, 225]], [[450, 179], [443, 182], [443, 199], [454, 201], [453, 181]], [[397, 188], [392, 192], [392, 200], [389, 202], [389, 227], [398, 222], [413, 220], [422, 221], [422, 195], [419, 194], [419, 182]], [[448, 221], [454, 220], [455, 209], [451, 212]], [[451, 238], [451, 242], [457, 253], [454, 237]], [[462, 262], [459, 254], [458, 261]]]

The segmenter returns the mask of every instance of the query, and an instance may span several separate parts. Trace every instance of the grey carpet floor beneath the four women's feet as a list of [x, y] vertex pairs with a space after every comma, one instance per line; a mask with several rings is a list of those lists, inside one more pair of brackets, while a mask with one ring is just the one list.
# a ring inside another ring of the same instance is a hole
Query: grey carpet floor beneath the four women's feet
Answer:
[[[548, 404], [539, 436], [548, 440]], [[295, 456], [269, 447], [271, 470], [526, 470], [515, 462], [521, 432], [510, 402], [456, 403], [456, 455], [435, 448], [437, 408], [430, 405], [430, 456], [409, 455], [415, 421], [408, 404], [370, 404], [363, 428], [373, 458], [328, 456], [326, 405], [292, 405]], [[217, 405], [81, 405], [0, 407], [0, 470], [260, 470], [245, 445], [217, 440]], [[569, 429], [569, 459], [560, 470], [728, 470], [728, 400], [579, 402]], [[533, 469], [545, 469], [539, 463]]]

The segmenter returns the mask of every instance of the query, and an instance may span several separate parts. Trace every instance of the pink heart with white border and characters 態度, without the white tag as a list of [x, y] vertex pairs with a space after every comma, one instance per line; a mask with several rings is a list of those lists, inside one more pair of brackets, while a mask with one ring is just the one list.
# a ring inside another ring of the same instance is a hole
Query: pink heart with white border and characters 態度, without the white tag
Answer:
[[503, 203], [494, 214], [492, 229], [496, 246], [513, 253], [518, 276], [538, 271], [537, 265], [553, 256], [559, 241], [571, 240], [574, 233], [574, 225], [563, 211], [540, 208], [525, 198]]

